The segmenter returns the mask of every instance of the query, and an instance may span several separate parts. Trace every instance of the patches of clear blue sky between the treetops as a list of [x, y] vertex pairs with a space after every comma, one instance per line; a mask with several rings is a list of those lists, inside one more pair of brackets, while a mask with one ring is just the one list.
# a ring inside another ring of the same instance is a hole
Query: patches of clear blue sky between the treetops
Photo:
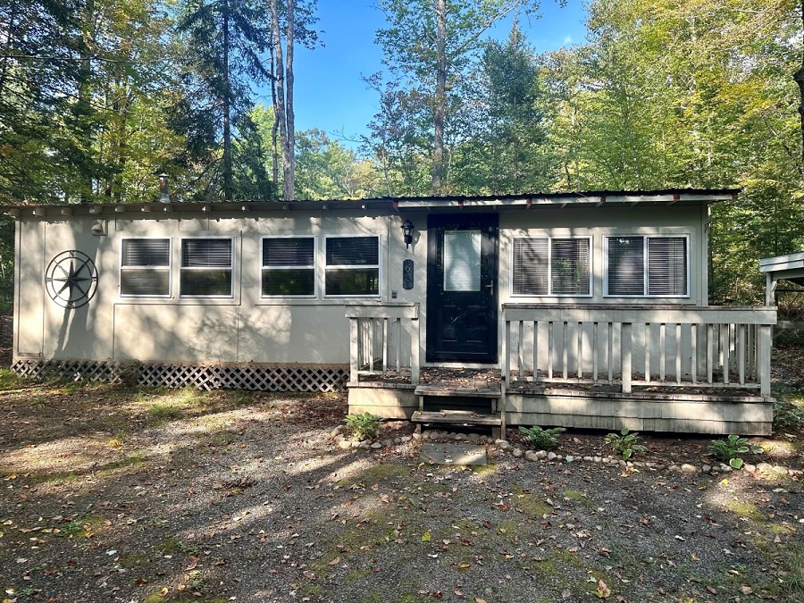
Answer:
[[[583, 41], [582, 0], [568, 0], [563, 8], [554, 0], [543, 0], [541, 14], [540, 19], [520, 21], [537, 52]], [[374, 34], [385, 25], [385, 18], [372, 0], [319, 0], [318, 16], [316, 29], [323, 30], [324, 46], [296, 50], [296, 130], [318, 128], [331, 138], [341, 133], [356, 138], [365, 133], [377, 111], [377, 95], [361, 76], [382, 70]], [[505, 39], [510, 25], [510, 19], [501, 22], [490, 35]], [[264, 103], [270, 105], [270, 99]]]

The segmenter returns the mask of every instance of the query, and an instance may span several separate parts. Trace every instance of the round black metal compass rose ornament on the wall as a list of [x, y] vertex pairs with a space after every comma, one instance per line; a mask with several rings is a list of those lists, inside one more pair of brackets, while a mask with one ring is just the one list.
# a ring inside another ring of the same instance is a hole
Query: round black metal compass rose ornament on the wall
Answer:
[[97, 289], [95, 262], [80, 251], [63, 251], [47, 264], [45, 289], [59, 306], [84, 306]]

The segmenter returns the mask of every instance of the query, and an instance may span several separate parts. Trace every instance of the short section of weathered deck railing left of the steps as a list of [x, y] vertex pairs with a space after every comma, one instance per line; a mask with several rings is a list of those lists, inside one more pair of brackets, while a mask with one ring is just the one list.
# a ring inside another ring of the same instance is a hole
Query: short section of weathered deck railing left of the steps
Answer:
[[[349, 381], [397, 375], [419, 382], [419, 305], [362, 302], [347, 306]], [[406, 344], [406, 345], [405, 345]]]

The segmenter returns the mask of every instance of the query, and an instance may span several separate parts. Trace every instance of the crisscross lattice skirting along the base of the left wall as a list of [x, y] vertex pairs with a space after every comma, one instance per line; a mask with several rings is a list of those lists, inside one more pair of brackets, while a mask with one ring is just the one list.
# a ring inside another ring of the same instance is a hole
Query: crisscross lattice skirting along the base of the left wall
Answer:
[[99, 360], [17, 360], [23, 377], [63, 377], [72, 381], [130, 381], [139, 385], [198, 389], [326, 392], [343, 389], [345, 364], [164, 364]]

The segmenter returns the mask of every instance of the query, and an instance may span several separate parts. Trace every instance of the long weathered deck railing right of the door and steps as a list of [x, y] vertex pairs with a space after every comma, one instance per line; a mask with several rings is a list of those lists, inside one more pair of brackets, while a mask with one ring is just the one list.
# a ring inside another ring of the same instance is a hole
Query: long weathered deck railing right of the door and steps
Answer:
[[511, 381], [759, 389], [775, 308], [506, 304]]

